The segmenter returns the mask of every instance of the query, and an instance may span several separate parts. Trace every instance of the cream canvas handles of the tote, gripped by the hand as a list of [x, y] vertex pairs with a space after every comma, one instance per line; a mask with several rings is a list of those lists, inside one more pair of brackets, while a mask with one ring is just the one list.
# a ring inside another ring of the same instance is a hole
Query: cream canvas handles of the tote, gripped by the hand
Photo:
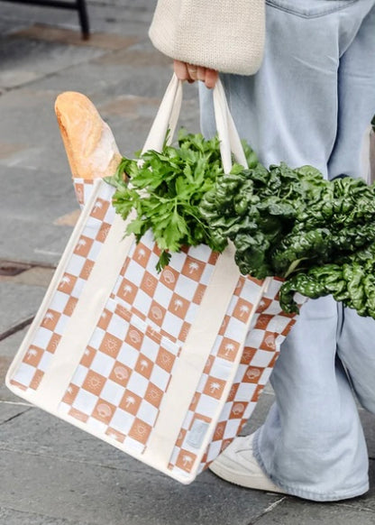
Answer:
[[[182, 104], [182, 82], [174, 74], [161, 101], [159, 111], [151, 125], [150, 133], [144, 143], [142, 152], [155, 150], [160, 152], [168, 130], [171, 143], [178, 124]], [[214, 109], [217, 134], [220, 140], [224, 172], [229, 173], [232, 168], [232, 152], [236, 161], [247, 168], [247, 161], [243, 152], [240, 136], [233, 122], [226, 101], [223, 84], [220, 79], [214, 88]]]

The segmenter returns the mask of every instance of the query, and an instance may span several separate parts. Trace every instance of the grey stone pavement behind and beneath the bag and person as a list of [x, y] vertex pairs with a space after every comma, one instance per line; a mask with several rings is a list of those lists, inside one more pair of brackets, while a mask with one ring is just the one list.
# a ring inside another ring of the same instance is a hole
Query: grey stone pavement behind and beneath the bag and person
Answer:
[[[85, 93], [120, 150], [139, 149], [171, 74], [147, 37], [154, 5], [88, 0], [92, 36], [81, 41], [75, 12], [0, 3], [0, 525], [373, 524], [375, 419], [363, 410], [370, 493], [319, 504], [248, 491], [210, 472], [178, 484], [5, 388], [78, 216], [54, 100], [64, 90]], [[181, 124], [196, 132], [197, 87], [185, 91]], [[267, 389], [246, 432], [272, 400]]]

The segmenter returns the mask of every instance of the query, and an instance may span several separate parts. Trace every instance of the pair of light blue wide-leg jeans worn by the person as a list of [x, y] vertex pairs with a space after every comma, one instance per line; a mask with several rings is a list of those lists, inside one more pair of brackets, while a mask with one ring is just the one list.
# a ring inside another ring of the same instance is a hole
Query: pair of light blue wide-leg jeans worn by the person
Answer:
[[[260, 71], [224, 75], [237, 128], [266, 165], [312, 164], [360, 177], [375, 114], [375, 0], [267, 0]], [[202, 131], [215, 133], [200, 87]], [[375, 320], [332, 297], [308, 300], [270, 381], [276, 403], [254, 439], [264, 472], [288, 493], [334, 501], [368, 490], [353, 394], [375, 413]]]

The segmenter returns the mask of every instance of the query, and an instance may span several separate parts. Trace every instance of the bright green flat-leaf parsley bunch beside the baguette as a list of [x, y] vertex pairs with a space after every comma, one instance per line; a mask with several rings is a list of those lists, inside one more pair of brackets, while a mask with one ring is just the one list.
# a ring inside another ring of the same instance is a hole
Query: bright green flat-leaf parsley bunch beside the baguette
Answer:
[[[244, 147], [249, 161], [256, 162], [252, 150]], [[144, 152], [138, 160], [123, 157], [114, 177], [106, 178], [116, 188], [116, 213], [126, 219], [136, 211], [125, 234], [134, 234], [138, 243], [151, 230], [161, 250], [158, 271], [169, 263], [171, 252], [184, 246], [206, 244], [223, 252], [226, 238], [216, 235], [200, 213], [201, 200], [219, 175], [224, 171], [217, 137], [206, 140], [181, 130], [176, 147], [164, 144], [161, 152]]]

